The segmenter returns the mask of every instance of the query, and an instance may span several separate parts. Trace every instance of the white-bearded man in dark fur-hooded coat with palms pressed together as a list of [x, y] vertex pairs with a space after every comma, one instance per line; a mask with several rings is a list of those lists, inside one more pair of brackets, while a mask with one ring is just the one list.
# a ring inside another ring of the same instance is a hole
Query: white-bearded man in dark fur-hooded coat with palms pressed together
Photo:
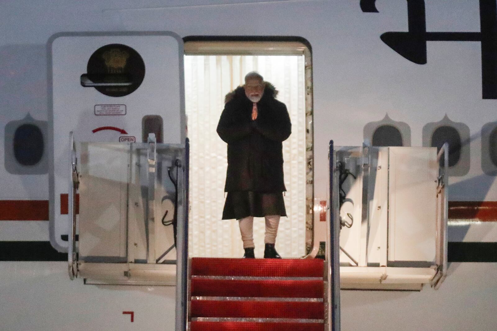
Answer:
[[265, 217], [264, 258], [281, 259], [274, 248], [280, 216], [286, 216], [282, 141], [292, 125], [277, 90], [255, 71], [230, 92], [217, 132], [228, 143], [223, 219], [239, 221], [244, 258], [254, 258], [253, 218]]

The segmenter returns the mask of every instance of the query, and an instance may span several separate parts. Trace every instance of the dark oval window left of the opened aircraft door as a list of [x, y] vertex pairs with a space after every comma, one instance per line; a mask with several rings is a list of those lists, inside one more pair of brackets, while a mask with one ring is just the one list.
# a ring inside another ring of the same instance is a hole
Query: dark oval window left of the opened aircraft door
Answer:
[[24, 166], [40, 162], [43, 156], [43, 133], [33, 124], [23, 124], [14, 132], [14, 156]]

